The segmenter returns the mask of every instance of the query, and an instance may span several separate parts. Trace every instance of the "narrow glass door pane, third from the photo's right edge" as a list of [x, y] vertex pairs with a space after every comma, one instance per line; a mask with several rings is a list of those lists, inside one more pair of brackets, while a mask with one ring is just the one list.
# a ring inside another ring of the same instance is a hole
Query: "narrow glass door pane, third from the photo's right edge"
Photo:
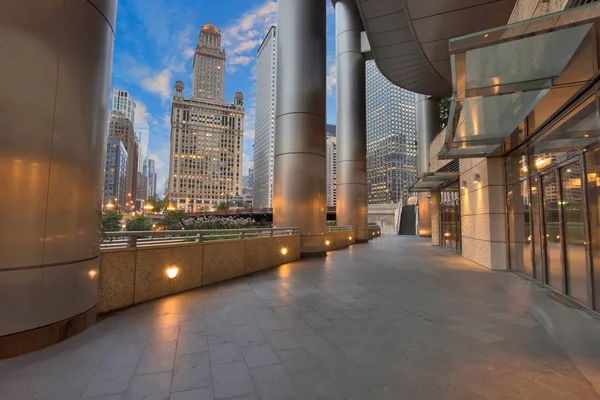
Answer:
[[565, 293], [565, 274], [562, 262], [560, 229], [560, 192], [556, 172], [542, 175], [544, 212], [544, 242], [546, 248], [546, 284]]

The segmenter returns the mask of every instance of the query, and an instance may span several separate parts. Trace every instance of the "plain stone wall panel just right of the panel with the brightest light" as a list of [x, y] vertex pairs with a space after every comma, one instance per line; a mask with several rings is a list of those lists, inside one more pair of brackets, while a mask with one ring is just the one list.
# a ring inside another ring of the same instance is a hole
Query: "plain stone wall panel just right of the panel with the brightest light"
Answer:
[[245, 240], [204, 243], [202, 285], [244, 275]]

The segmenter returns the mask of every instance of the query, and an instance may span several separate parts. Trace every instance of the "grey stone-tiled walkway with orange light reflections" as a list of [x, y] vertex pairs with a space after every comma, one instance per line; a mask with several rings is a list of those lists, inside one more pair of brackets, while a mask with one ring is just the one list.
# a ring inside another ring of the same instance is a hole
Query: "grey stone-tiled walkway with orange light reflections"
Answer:
[[0, 398], [600, 399], [600, 329], [428, 240], [150, 302], [0, 363]]

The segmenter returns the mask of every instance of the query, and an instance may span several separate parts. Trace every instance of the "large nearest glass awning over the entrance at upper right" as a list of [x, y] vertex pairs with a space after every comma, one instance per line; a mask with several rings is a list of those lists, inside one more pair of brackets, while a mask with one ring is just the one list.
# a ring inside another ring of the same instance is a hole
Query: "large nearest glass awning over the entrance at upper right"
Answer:
[[439, 157], [485, 157], [522, 129], [550, 90], [571, 83], [563, 72], [599, 19], [591, 3], [450, 40], [453, 99]]

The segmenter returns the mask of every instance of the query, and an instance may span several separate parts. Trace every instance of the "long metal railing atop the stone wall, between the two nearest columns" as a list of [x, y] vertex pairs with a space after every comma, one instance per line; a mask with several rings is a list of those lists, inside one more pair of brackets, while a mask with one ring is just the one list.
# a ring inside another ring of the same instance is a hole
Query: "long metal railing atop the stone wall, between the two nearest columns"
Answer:
[[298, 233], [298, 228], [205, 229], [180, 231], [106, 232], [101, 249], [122, 249], [178, 243], [201, 243], [225, 239], [285, 236]]

